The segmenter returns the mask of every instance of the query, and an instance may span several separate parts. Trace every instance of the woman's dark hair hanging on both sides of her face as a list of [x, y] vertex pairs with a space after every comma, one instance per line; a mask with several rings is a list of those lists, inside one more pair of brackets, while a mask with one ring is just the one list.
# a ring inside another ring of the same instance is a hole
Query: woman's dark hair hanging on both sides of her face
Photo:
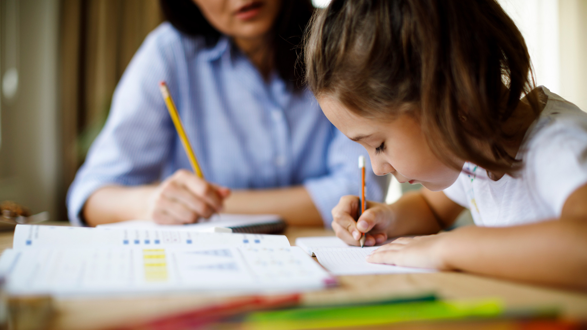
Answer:
[[[180, 32], [204, 36], [208, 46], [218, 42], [221, 33], [208, 23], [192, 0], [160, 0], [160, 4], [167, 21]], [[304, 70], [296, 70], [297, 50], [313, 11], [311, 0], [282, 0], [281, 12], [275, 19], [275, 67], [281, 78], [292, 82], [295, 88], [303, 85]]]

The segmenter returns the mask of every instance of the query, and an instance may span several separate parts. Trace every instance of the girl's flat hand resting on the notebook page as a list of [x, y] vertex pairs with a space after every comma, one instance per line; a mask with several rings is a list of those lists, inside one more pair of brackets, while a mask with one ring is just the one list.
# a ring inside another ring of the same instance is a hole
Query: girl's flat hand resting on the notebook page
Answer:
[[371, 252], [367, 261], [376, 264], [449, 270], [450, 267], [443, 260], [443, 244], [447, 234], [449, 233], [397, 238], [392, 243]]

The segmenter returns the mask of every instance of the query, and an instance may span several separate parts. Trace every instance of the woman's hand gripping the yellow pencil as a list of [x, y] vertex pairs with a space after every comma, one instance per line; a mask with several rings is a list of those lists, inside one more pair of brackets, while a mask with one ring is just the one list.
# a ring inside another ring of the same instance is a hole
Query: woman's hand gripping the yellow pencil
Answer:
[[195, 223], [222, 210], [230, 189], [208, 183], [187, 170], [178, 170], [151, 194], [147, 218], [159, 224]]

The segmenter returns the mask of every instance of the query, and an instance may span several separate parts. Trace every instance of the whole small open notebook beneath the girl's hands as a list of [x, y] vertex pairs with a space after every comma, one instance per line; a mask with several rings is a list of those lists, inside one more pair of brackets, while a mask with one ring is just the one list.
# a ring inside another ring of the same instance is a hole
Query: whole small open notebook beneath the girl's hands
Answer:
[[[393, 241], [387, 240], [385, 243]], [[295, 245], [307, 254], [315, 256], [318, 262], [333, 275], [395, 274], [409, 272], [434, 272], [427, 268], [400, 267], [372, 264], [365, 258], [377, 247], [353, 247], [335, 236], [299, 237]]]

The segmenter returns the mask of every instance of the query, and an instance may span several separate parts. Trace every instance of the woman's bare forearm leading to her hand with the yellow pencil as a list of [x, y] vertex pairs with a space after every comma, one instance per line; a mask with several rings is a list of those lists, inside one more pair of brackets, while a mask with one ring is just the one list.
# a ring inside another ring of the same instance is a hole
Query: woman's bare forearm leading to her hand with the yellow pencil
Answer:
[[82, 209], [87, 225], [99, 224], [146, 217], [150, 196], [157, 186], [106, 186], [96, 190]]

